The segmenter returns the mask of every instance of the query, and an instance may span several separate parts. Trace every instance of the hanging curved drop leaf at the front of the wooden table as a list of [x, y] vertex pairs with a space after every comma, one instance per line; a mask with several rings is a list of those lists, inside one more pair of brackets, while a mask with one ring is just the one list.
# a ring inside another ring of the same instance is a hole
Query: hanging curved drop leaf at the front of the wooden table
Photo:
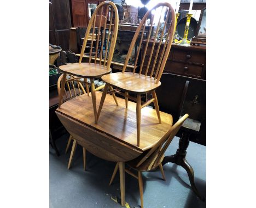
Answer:
[[61, 113], [56, 112], [56, 114], [67, 131], [77, 139], [78, 144], [104, 160], [125, 162], [142, 154], [142, 151], [123, 144], [117, 139], [91, 129]]

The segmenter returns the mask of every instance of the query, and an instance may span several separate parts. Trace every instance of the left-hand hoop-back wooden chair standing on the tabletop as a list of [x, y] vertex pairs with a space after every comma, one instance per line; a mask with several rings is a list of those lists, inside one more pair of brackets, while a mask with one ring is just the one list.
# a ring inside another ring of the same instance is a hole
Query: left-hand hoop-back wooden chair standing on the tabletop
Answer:
[[[104, 13], [103, 13], [104, 12]], [[100, 15], [97, 15], [100, 14]], [[104, 16], [104, 15], [106, 16]], [[109, 21], [109, 24], [107, 24]], [[92, 33], [91, 33], [92, 29]], [[103, 29], [103, 33], [101, 35], [101, 30]], [[108, 35], [107, 35], [108, 30]], [[92, 105], [94, 109], [94, 118], [95, 123], [97, 124], [97, 109], [96, 109], [96, 96], [95, 91], [104, 88], [104, 85], [95, 89], [94, 79], [101, 78], [102, 75], [109, 74], [112, 69], [110, 68], [110, 64], [112, 61], [115, 42], [117, 41], [117, 33], [118, 33], [118, 10], [113, 2], [105, 1], [98, 5], [94, 14], [91, 16], [91, 20], [86, 29], [85, 38], [82, 46], [82, 50], [80, 53], [80, 58], [78, 63], [68, 63], [66, 65], [60, 66], [60, 70], [63, 72], [63, 81], [65, 82], [67, 75], [73, 75], [76, 81], [84, 83], [86, 90], [89, 91], [88, 85], [91, 86], [91, 98]], [[90, 34], [90, 38], [89, 38]], [[96, 36], [96, 37], [95, 37]], [[100, 41], [101, 39], [101, 41]], [[89, 53], [89, 63], [82, 63], [82, 59], [84, 56], [84, 51], [86, 44], [90, 40], [90, 53]], [[107, 41], [106, 41], [107, 40]], [[92, 48], [95, 45], [95, 52], [92, 52]], [[104, 44], [106, 42], [106, 44]], [[105, 47], [103, 47], [105, 45]], [[94, 61], [93, 61], [94, 60]], [[81, 80], [84, 79], [84, 81]], [[88, 82], [88, 78], [90, 82]], [[62, 88], [63, 87], [63, 88]], [[59, 100], [59, 108], [61, 108], [62, 104], [62, 94], [64, 85], [62, 85], [60, 90], [60, 100]], [[113, 90], [111, 86], [110, 90]], [[112, 93], [115, 103], [118, 105], [117, 99], [115, 97], [114, 92]]]

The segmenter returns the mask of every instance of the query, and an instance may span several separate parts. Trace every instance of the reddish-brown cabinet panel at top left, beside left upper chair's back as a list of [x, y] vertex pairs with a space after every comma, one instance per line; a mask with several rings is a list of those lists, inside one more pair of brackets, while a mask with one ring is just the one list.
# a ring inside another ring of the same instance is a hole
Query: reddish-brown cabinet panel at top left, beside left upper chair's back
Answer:
[[86, 27], [86, 3], [85, 1], [72, 0], [73, 27]]

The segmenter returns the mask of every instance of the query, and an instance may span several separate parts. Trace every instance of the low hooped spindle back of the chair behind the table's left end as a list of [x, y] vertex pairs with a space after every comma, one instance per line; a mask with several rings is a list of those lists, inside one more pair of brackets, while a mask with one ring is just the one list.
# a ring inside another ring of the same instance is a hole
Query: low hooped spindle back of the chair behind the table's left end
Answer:
[[[69, 78], [69, 79], [66, 79], [65, 85], [67, 86], [69, 95], [67, 94], [67, 91], [66, 91], [66, 89], [64, 88], [64, 92], [65, 92], [65, 93], [63, 93], [63, 97], [62, 97], [63, 102], [65, 102], [65, 101], [67, 101], [67, 100], [69, 100], [69, 99], [73, 99], [73, 97], [77, 97], [77, 94], [78, 94], [78, 93], [79, 93], [79, 95], [82, 95], [81, 90], [83, 91], [84, 94], [86, 93], [86, 92], [85, 92], [85, 89], [84, 89], [84, 87], [83, 87], [83, 85], [82, 85], [80, 82], [78, 82], [77, 80], [75, 80], [75, 77], [74, 77], [74, 76], [72, 76], [72, 75], [68, 75], [68, 76], [70, 76], [70, 78]], [[58, 79], [58, 81], [57, 81], [57, 91], [58, 91], [59, 97], [60, 97], [60, 90], [61, 90], [61, 84], [62, 84], [62, 83], [61, 83], [61, 82], [62, 82], [62, 77], [63, 77], [63, 74], [59, 77], [59, 79]], [[74, 81], [77, 82], [78, 91], [75, 90]], [[70, 84], [70, 85], [69, 85], [69, 84]], [[72, 88], [73, 88], [73, 90], [72, 90]], [[72, 91], [73, 91], [73, 95], [72, 95]], [[65, 94], [66, 99], [65, 99], [65, 97], [64, 97], [64, 94]], [[59, 100], [60, 100], [60, 99], [59, 99]]]

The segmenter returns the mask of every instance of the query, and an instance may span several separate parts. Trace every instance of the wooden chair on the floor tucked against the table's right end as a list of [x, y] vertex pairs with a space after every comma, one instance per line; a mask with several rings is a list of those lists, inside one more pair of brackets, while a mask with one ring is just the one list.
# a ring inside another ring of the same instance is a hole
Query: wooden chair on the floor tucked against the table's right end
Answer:
[[[126, 164], [130, 167], [129, 169], [125, 169], [125, 172], [132, 175], [134, 178], [138, 179], [139, 184], [139, 194], [141, 196], [141, 207], [143, 208], [143, 183], [142, 183], [142, 174], [141, 172], [144, 171], [150, 171], [154, 170], [157, 167], [160, 168], [162, 178], [165, 180], [165, 174], [164, 169], [162, 168], [162, 160], [164, 159], [164, 153], [170, 143], [172, 142], [172, 139], [177, 134], [179, 129], [181, 128], [184, 121], [188, 118], [188, 114], [183, 115], [182, 118], [180, 118], [176, 124], [174, 124], [170, 130], [165, 134], [164, 137], [162, 137], [158, 143], [156, 143], [152, 149], [144, 152], [141, 156], [135, 158], [132, 161], [126, 162]], [[110, 179], [109, 185], [113, 182], [113, 179], [115, 177], [115, 174], [117, 174], [117, 171], [119, 169], [119, 163], [115, 165], [115, 169], [113, 172], [113, 175]], [[131, 169], [136, 170], [138, 172], [138, 175], [131, 172]]]

